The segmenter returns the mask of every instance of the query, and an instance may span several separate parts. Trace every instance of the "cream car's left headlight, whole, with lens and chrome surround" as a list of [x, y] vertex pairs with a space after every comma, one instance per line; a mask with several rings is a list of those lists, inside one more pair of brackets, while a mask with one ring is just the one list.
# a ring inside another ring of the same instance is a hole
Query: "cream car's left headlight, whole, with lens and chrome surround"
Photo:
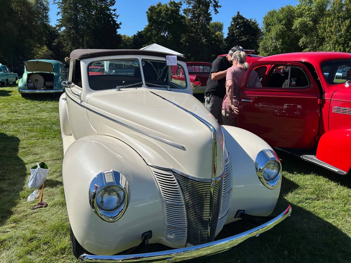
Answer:
[[115, 222], [121, 218], [129, 199], [128, 182], [117, 171], [103, 171], [90, 184], [89, 204], [95, 214], [107, 222]]

